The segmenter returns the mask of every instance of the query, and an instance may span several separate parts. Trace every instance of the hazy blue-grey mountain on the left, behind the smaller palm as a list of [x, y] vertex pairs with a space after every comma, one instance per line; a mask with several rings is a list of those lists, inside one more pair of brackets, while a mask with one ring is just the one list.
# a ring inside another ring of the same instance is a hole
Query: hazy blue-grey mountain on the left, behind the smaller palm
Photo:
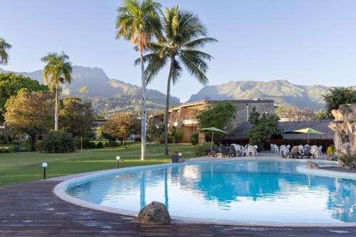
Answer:
[[[12, 73], [0, 68], [0, 73]], [[43, 71], [36, 70], [31, 73], [14, 72], [23, 76], [38, 80], [43, 83]], [[62, 86], [62, 95], [81, 96], [80, 88], [88, 86], [85, 100], [93, 102], [96, 112], [108, 113], [121, 110], [136, 109], [141, 105], [142, 89], [136, 85], [125, 83], [120, 80], [110, 79], [101, 68], [88, 68], [73, 66], [72, 83]], [[166, 95], [158, 90], [147, 90], [147, 108], [163, 109]], [[179, 98], [171, 96], [171, 105], [179, 105]]]

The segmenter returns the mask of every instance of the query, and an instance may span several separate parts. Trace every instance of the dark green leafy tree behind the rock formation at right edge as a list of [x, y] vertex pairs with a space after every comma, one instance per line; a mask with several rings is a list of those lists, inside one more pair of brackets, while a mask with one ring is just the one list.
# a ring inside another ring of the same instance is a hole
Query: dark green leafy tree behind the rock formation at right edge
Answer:
[[333, 118], [332, 110], [337, 110], [339, 105], [352, 104], [356, 102], [356, 90], [352, 87], [330, 88], [325, 100], [326, 112], [329, 118]]

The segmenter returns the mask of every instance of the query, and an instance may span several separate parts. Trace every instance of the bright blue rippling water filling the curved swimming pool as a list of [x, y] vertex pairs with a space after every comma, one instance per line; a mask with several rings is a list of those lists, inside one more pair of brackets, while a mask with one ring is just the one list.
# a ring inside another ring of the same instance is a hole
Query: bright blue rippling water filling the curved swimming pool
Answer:
[[303, 164], [197, 162], [99, 177], [71, 186], [67, 193], [137, 212], [151, 201], [160, 201], [171, 216], [218, 221], [356, 222], [356, 180], [300, 174], [296, 167]]

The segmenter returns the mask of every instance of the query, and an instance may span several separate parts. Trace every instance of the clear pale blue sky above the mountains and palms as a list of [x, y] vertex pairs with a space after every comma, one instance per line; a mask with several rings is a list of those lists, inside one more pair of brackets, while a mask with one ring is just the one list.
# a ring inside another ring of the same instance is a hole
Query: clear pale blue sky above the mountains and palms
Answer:
[[[132, 45], [115, 40], [120, 0], [0, 0], [0, 37], [13, 45], [6, 70], [43, 68], [65, 51], [75, 65], [103, 68], [140, 85]], [[289, 80], [301, 85], [356, 85], [356, 1], [159, 1], [194, 11], [219, 40], [205, 51], [210, 84]], [[167, 70], [149, 88], [165, 91]], [[184, 102], [201, 85], [187, 73], [172, 88]]]

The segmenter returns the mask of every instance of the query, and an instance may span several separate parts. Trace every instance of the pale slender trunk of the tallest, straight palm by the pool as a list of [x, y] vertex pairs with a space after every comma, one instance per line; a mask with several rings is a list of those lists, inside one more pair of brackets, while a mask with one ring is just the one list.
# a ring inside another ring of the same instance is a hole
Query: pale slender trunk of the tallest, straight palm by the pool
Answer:
[[143, 63], [142, 49], [140, 49], [141, 80], [142, 80], [142, 112], [141, 112], [141, 160], [146, 157], [146, 76]]

